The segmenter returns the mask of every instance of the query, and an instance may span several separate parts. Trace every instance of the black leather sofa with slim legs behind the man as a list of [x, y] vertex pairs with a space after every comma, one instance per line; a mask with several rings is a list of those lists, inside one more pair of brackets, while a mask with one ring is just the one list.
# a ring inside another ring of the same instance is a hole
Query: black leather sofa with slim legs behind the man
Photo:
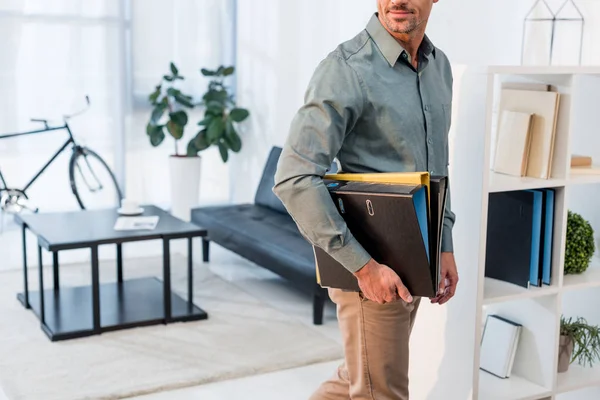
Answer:
[[273, 271], [313, 296], [313, 323], [320, 325], [328, 295], [317, 284], [312, 246], [272, 191], [280, 155], [281, 148], [271, 149], [253, 204], [195, 208], [191, 218], [208, 230], [205, 262], [213, 241]]

